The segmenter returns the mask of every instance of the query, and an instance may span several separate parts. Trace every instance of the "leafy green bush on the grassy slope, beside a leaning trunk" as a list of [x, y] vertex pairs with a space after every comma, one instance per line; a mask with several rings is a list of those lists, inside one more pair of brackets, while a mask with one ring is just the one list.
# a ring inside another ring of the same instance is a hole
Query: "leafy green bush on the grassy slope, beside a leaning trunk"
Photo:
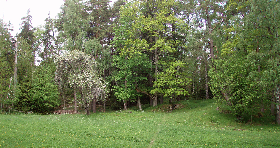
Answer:
[[[209, 71], [210, 89], [217, 103], [229, 104], [237, 120], [241, 120], [249, 113], [259, 93], [254, 89], [257, 84], [247, 78], [249, 67], [246, 62], [244, 58], [217, 59], [214, 61], [216, 71], [214, 69]], [[224, 94], [227, 94], [228, 99], [224, 98]]]

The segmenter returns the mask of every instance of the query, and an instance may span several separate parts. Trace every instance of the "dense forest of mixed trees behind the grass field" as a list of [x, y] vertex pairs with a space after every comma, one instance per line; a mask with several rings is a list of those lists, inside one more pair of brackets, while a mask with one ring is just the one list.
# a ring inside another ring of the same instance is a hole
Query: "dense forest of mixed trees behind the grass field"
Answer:
[[65, 0], [21, 32], [0, 21], [1, 110], [46, 113], [213, 98], [280, 123], [279, 0]]

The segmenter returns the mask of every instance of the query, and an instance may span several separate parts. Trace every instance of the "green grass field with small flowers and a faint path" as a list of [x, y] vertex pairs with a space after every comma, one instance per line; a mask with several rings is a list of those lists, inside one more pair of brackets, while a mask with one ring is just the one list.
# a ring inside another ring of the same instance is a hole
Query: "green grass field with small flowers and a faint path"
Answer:
[[91, 115], [0, 115], [0, 147], [173, 148], [280, 147], [280, 126], [236, 123], [213, 100]]

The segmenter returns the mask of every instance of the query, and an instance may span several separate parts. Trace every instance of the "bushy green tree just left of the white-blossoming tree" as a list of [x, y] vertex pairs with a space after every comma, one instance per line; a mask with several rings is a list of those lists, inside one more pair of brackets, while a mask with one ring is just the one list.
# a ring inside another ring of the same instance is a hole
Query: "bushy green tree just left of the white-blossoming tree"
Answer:
[[54, 81], [54, 65], [41, 65], [36, 70], [32, 88], [28, 92], [30, 110], [46, 113], [60, 105], [58, 87]]

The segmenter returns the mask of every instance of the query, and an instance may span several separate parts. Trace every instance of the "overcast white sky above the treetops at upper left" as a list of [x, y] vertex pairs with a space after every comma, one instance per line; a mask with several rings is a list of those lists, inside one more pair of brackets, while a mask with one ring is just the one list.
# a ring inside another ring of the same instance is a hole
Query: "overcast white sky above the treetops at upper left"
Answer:
[[20, 33], [21, 18], [27, 15], [28, 9], [33, 17], [32, 26], [38, 27], [44, 25], [44, 20], [48, 17], [49, 12], [51, 18], [55, 18], [63, 4], [63, 0], [0, 0], [0, 18], [4, 18], [5, 23], [11, 21], [14, 26], [12, 36], [16, 36], [17, 33]]

